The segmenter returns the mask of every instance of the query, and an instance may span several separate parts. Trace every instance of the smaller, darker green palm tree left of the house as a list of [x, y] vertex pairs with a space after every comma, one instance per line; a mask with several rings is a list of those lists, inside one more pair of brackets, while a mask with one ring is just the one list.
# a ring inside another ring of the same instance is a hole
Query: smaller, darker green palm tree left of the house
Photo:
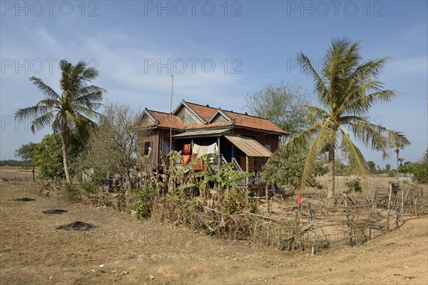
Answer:
[[91, 119], [99, 115], [96, 110], [102, 105], [105, 90], [89, 85], [98, 77], [98, 71], [94, 67], [87, 66], [85, 61], [78, 61], [73, 65], [61, 60], [59, 67], [61, 94], [57, 94], [41, 79], [30, 77], [30, 81], [44, 95], [44, 99], [36, 106], [19, 109], [15, 112], [15, 118], [35, 118], [31, 123], [33, 134], [36, 129], [51, 125], [54, 133], [61, 135], [64, 172], [67, 183], [70, 183], [66, 153], [68, 131], [77, 129], [83, 139], [88, 138], [91, 126], [95, 124]]

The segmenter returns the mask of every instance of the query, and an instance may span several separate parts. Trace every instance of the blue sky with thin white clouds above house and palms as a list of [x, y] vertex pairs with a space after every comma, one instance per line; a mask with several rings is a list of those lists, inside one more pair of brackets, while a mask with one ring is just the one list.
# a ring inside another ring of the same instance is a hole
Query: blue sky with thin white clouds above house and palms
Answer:
[[427, 1], [1, 1], [0, 9], [1, 159], [50, 131], [33, 135], [13, 114], [41, 99], [30, 76], [58, 90], [61, 59], [96, 66], [108, 101], [169, 111], [173, 72], [173, 106], [245, 111], [245, 95], [266, 84], [312, 93], [297, 52], [316, 64], [342, 36], [360, 41], [365, 59], [391, 57], [380, 80], [401, 96], [374, 106], [372, 121], [407, 135], [406, 161], [427, 149]]

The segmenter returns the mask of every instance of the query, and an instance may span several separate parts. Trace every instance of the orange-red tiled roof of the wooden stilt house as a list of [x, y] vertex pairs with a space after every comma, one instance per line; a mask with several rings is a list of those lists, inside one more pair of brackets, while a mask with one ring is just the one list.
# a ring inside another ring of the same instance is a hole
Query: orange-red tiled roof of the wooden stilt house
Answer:
[[[209, 121], [209, 119], [218, 111], [218, 109], [212, 108], [210, 106], [203, 106], [199, 104], [189, 103], [183, 101], [187, 106], [189, 106], [196, 114], [198, 114], [205, 121]], [[147, 110], [154, 119], [158, 120], [159, 124], [150, 123], [143, 124], [138, 126], [139, 128], [149, 128], [149, 127], [161, 127], [161, 128], [169, 128], [170, 127], [170, 114], [163, 113], [159, 111], [151, 111]], [[287, 134], [286, 131], [283, 131], [279, 126], [272, 123], [272, 121], [268, 119], [263, 119], [257, 116], [250, 116], [248, 114], [240, 114], [233, 111], [225, 111], [222, 110], [226, 115], [228, 115], [233, 121], [222, 121], [222, 122], [214, 122], [208, 124], [194, 124], [194, 125], [185, 125], [178, 118], [178, 116], [172, 116], [172, 128], [180, 129], [180, 130], [188, 130], [188, 129], [208, 129], [213, 127], [221, 128], [222, 126], [235, 126], [235, 127], [243, 127], [248, 129], [255, 129], [259, 131], [267, 131], [278, 134]]]

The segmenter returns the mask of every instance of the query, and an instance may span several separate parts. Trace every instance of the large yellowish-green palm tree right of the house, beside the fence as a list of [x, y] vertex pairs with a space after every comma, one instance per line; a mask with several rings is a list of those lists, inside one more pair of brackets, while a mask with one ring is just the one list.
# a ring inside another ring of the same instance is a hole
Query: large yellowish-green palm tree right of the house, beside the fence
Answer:
[[325, 53], [320, 72], [315, 70], [305, 54], [301, 52], [297, 55], [302, 71], [314, 81], [317, 99], [322, 107], [305, 105], [316, 122], [284, 147], [287, 151], [295, 151], [302, 143], [310, 142], [300, 186], [310, 184], [315, 174], [315, 160], [320, 154], [328, 152], [329, 197], [335, 195], [335, 151], [345, 151], [353, 173], [370, 173], [367, 161], [348, 132], [372, 150], [382, 151], [384, 158], [389, 156], [391, 147], [410, 144], [401, 132], [390, 131], [370, 122], [367, 116], [370, 107], [389, 102], [398, 93], [382, 90], [383, 83], [376, 80], [387, 58], [362, 61], [360, 50], [359, 42], [333, 40]]

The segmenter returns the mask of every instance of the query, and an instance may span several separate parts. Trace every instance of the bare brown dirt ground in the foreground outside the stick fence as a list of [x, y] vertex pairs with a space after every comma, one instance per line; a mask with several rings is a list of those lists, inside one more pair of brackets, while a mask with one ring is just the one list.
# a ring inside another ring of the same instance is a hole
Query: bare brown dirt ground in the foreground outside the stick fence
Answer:
[[[0, 284], [428, 284], [426, 217], [308, 256], [0, 187]], [[56, 229], [74, 221], [93, 228]]]

